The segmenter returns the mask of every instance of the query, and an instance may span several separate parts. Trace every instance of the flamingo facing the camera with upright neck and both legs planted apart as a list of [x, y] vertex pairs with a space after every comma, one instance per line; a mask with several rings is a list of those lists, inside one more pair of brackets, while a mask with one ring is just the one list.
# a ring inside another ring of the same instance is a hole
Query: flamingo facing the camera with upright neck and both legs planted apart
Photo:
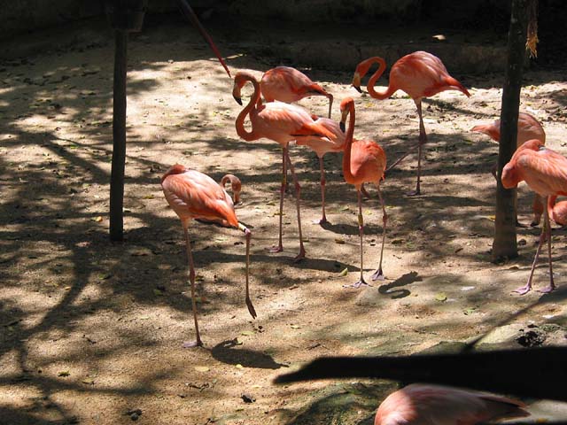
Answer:
[[369, 286], [364, 282], [363, 266], [362, 266], [362, 235], [364, 233], [364, 220], [362, 218], [362, 194], [361, 185], [364, 182], [375, 183], [378, 189], [378, 198], [382, 205], [382, 248], [380, 250], [380, 265], [377, 271], [372, 274], [372, 280], [384, 280], [382, 272], [382, 258], [384, 254], [384, 241], [386, 237], [386, 222], [388, 214], [384, 207], [384, 199], [380, 191], [380, 181], [384, 180], [384, 171], [386, 169], [386, 154], [382, 147], [373, 140], [353, 140], [354, 133], [354, 101], [351, 97], [346, 97], [340, 104], [341, 111], [341, 128], [345, 128], [346, 117], [350, 115], [348, 123], [348, 131], [346, 132], [345, 154], [343, 155], [343, 174], [345, 180], [349, 184], [353, 184], [356, 188], [358, 196], [358, 226], [361, 236], [361, 278], [358, 282], [351, 285], [353, 288], [360, 288], [362, 285]]

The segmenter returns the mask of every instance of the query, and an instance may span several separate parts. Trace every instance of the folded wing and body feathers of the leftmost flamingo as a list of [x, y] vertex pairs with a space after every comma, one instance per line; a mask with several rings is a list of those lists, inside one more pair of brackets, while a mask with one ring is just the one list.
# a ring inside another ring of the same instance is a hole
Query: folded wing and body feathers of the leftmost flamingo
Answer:
[[161, 187], [182, 220], [227, 220], [231, 226], [238, 226], [232, 199], [208, 175], [187, 169], [182, 174], [167, 175]]

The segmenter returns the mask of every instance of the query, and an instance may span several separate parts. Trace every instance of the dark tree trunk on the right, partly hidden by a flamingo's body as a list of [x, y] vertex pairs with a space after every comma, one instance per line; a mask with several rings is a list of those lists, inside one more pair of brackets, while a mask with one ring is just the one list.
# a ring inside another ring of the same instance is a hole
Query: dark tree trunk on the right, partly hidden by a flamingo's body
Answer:
[[508, 34], [508, 66], [502, 90], [500, 148], [498, 152], [498, 183], [496, 189], [496, 220], [493, 260], [517, 257], [516, 189], [504, 189], [502, 168], [517, 147], [517, 114], [522, 89], [522, 68], [525, 58], [527, 31], [527, 1], [512, 0]]

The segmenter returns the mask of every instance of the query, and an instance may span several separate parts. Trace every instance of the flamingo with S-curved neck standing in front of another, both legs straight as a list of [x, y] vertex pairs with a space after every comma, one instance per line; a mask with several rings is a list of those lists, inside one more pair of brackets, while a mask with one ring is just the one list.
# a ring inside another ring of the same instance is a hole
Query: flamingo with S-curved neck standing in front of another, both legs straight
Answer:
[[[295, 169], [291, 164], [288, 152], [289, 143], [293, 140], [301, 143], [302, 140], [315, 137], [327, 137], [332, 139], [335, 134], [321, 124], [317, 124], [313, 117], [303, 108], [294, 104], [284, 104], [282, 102], [268, 102], [263, 104], [260, 100], [260, 83], [251, 73], [240, 71], [234, 79], [232, 95], [238, 104], [242, 104], [240, 95], [241, 89], [246, 82], [251, 82], [254, 92], [245, 108], [238, 114], [236, 121], [237, 134], [245, 141], [258, 140], [262, 137], [273, 140], [282, 147], [282, 186], [280, 189], [280, 226], [279, 243], [277, 247], [270, 249], [270, 252], [283, 251], [282, 243], [282, 219], [283, 219], [283, 192], [285, 190], [287, 165], [290, 166], [291, 176], [295, 185], [296, 206], [299, 227], [299, 254], [294, 261], [305, 258], [305, 247], [303, 246], [303, 236], [301, 233], [301, 216], [299, 207], [299, 197], [301, 187], [295, 175]], [[252, 131], [245, 129], [245, 118], [250, 116]]]

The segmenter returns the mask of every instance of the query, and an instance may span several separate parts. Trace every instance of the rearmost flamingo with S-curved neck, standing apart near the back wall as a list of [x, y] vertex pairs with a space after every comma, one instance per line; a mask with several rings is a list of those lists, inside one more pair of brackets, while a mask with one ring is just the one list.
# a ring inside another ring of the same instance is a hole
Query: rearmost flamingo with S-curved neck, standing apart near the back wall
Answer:
[[[374, 73], [369, 80], [366, 88], [369, 95], [379, 100], [384, 100], [391, 97], [397, 90], [405, 91], [409, 97], [414, 99], [419, 115], [419, 143], [417, 143], [417, 183], [416, 190], [409, 193], [409, 195], [419, 195], [420, 190], [420, 175], [421, 175], [421, 161], [422, 161], [422, 146], [427, 142], [427, 134], [425, 133], [425, 126], [423, 125], [422, 116], [422, 98], [431, 97], [437, 93], [445, 90], [459, 90], [467, 97], [470, 93], [464, 86], [456, 81], [451, 75], [447, 73], [447, 68], [441, 62], [441, 59], [431, 55], [426, 51], [415, 51], [396, 61], [390, 71], [390, 83], [385, 91], [377, 92], [374, 89], [376, 81], [384, 73], [386, 63], [383, 58], [368, 58], [363, 60], [358, 66], [353, 76], [353, 87], [359, 92], [361, 90], [361, 78], [369, 72], [370, 66], [379, 64], [377, 72]], [[394, 166], [397, 166], [403, 158], [406, 158], [409, 153], [415, 151], [415, 147], [410, 149], [405, 155], [398, 158], [386, 171], [390, 171]]]

